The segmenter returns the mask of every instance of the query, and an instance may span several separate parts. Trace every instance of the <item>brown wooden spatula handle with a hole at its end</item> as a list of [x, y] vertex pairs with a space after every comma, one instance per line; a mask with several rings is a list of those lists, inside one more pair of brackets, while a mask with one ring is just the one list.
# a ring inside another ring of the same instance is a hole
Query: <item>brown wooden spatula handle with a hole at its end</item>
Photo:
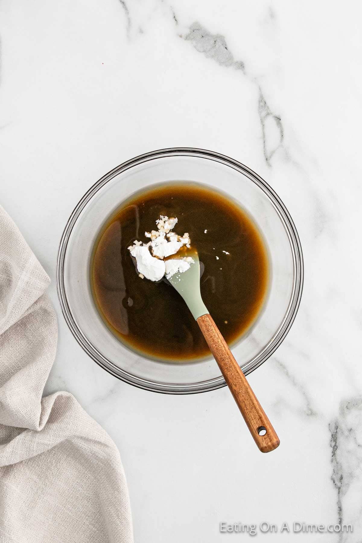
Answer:
[[280, 440], [213, 318], [207, 313], [197, 321], [257, 446], [262, 452], [273, 451]]

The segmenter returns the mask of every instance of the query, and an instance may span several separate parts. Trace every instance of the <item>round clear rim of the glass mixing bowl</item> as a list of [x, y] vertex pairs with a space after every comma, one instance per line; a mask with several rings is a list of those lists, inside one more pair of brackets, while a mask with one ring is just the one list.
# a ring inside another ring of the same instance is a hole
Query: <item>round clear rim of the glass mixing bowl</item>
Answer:
[[304, 282], [304, 265], [303, 265], [303, 253], [299, 239], [298, 232], [296, 230], [293, 219], [291, 218], [287, 207], [285, 207], [281, 198], [276, 192], [264, 181], [261, 176], [254, 172], [251, 168], [245, 166], [242, 162], [232, 159], [227, 155], [210, 151], [207, 149], [199, 149], [193, 147], [171, 147], [166, 149], [157, 149], [138, 155], [130, 160], [121, 163], [119, 166], [111, 169], [108, 173], [103, 175], [96, 183], [94, 183], [89, 190], [82, 196], [78, 204], [74, 207], [71, 216], [67, 220], [65, 228], [62, 232], [62, 236], [59, 243], [58, 255], [56, 258], [56, 291], [58, 293], [58, 300], [61, 307], [61, 311], [65, 321], [71, 330], [74, 338], [77, 340], [81, 348], [90, 356], [94, 362], [96, 362], [101, 368], [105, 369], [111, 375], [118, 379], [131, 384], [132, 386], [150, 390], [152, 392], [158, 392], [163, 394], [194, 394], [201, 392], [208, 392], [209, 390], [215, 390], [226, 386], [226, 382], [223, 376], [214, 378], [212, 380], [201, 381], [198, 383], [189, 384], [175, 384], [175, 383], [157, 383], [150, 381], [142, 377], [138, 377], [130, 374], [129, 372], [115, 367], [110, 361], [107, 361], [104, 355], [101, 355], [99, 351], [91, 344], [91, 342], [84, 336], [79, 329], [77, 323], [73, 319], [72, 312], [68, 305], [68, 300], [65, 291], [64, 283], [64, 262], [67, 251], [67, 244], [69, 237], [78, 217], [88, 202], [96, 195], [98, 190], [103, 187], [107, 182], [112, 180], [119, 173], [125, 172], [127, 169], [139, 165], [143, 162], [163, 158], [167, 156], [194, 156], [201, 157], [206, 160], [213, 160], [224, 163], [226, 166], [232, 167], [237, 171], [246, 174], [246, 176], [263, 190], [263, 192], [271, 200], [276, 212], [280, 216], [285, 230], [288, 233], [291, 250], [293, 252], [294, 263], [294, 282], [293, 292], [290, 297], [289, 306], [284, 314], [284, 318], [278, 326], [278, 329], [269, 340], [268, 344], [264, 346], [263, 350], [258, 353], [256, 357], [251, 359], [244, 367], [243, 371], [245, 375], [250, 374], [252, 371], [262, 365], [281, 345], [285, 337], [287, 336], [291, 325], [293, 324], [297, 311], [300, 306], [303, 282]]

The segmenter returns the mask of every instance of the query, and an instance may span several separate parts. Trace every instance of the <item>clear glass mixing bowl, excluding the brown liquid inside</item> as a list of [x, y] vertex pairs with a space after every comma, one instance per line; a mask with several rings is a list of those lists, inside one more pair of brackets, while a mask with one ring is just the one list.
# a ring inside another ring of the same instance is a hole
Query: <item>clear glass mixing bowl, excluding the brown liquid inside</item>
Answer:
[[300, 304], [302, 250], [281, 199], [259, 175], [227, 156], [203, 149], [161, 149], [137, 156], [104, 175], [69, 217], [59, 245], [56, 284], [69, 328], [97, 364], [137, 387], [189, 394], [225, 386], [214, 359], [165, 363], [128, 349], [101, 319], [89, 280], [93, 244], [107, 217], [131, 194], [175, 181], [221, 189], [250, 214], [263, 233], [270, 258], [269, 295], [258, 319], [232, 346], [232, 352], [246, 375], [265, 362], [287, 335]]

